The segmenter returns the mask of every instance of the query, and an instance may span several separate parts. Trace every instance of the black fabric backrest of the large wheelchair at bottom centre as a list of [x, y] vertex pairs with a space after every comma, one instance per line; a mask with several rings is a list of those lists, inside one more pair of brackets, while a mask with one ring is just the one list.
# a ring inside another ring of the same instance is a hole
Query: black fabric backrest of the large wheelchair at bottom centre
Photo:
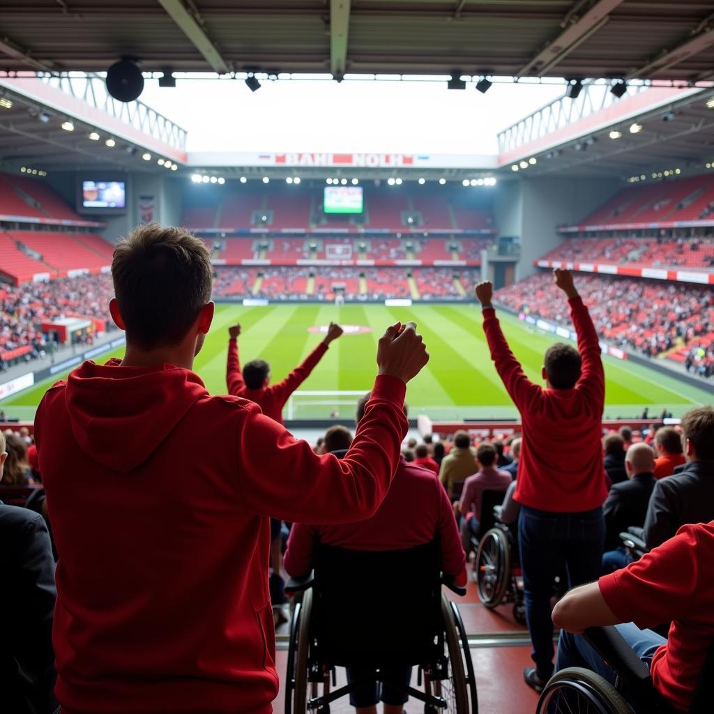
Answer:
[[438, 540], [405, 550], [318, 544], [311, 632], [324, 663], [355, 668], [433, 661], [443, 643]]

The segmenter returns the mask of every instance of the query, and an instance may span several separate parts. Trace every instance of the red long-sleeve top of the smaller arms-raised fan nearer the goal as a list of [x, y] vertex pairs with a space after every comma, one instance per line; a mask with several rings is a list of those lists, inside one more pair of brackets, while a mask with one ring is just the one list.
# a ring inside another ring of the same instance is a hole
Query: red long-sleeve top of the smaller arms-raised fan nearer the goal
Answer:
[[310, 376], [327, 350], [327, 345], [321, 342], [283, 381], [259, 389], [248, 389], [243, 381], [241, 363], [238, 360], [238, 341], [236, 338], [231, 338], [228, 340], [228, 367], [226, 368], [228, 394], [255, 402], [263, 414], [282, 424], [283, 406], [290, 395]]

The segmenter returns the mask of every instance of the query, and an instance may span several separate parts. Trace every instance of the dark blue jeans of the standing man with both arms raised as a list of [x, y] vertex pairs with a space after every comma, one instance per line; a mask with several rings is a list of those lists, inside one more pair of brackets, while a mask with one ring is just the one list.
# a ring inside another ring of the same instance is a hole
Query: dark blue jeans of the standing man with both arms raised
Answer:
[[603, 509], [581, 513], [552, 513], [521, 506], [518, 543], [521, 550], [526, 619], [531, 633], [535, 671], [543, 680], [553, 673], [553, 620], [550, 598], [557, 575], [568, 588], [600, 576], [605, 542]]

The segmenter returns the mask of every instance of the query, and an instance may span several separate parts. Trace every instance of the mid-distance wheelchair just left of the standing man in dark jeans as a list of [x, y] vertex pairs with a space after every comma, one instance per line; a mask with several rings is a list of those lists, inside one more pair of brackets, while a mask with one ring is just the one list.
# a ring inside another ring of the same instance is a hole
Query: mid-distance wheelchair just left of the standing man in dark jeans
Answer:
[[[481, 505], [483, 536], [472, 538], [476, 549], [473, 560], [473, 579], [478, 598], [489, 610], [513, 603], [513, 618], [519, 625], [526, 624], [526, 603], [523, 595], [521, 566], [518, 561], [518, 535], [505, 523], [499, 523], [493, 513], [503, 503], [505, 491], [484, 491]], [[490, 514], [488, 518], [486, 514]]]

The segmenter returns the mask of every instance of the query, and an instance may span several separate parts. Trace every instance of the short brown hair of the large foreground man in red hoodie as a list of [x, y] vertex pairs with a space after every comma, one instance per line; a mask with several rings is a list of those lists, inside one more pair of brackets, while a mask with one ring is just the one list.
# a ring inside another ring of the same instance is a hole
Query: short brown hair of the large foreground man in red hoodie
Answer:
[[114, 249], [111, 276], [126, 337], [144, 350], [181, 342], [211, 300], [208, 248], [184, 228], [134, 228]]

